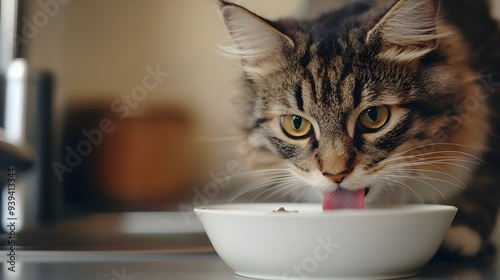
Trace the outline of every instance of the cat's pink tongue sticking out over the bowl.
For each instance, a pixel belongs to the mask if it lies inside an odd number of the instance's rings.
[[[365,208],[365,190],[350,191],[338,188],[333,192],[323,193],[323,210],[363,209]]]

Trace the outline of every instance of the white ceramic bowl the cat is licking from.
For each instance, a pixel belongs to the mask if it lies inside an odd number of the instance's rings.
[[[273,212],[280,207],[298,212]],[[384,206],[323,212],[320,204],[195,208],[219,256],[258,279],[388,279],[418,274],[457,209]]]

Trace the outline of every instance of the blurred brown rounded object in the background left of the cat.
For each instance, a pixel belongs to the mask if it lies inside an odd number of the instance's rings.
[[[172,200],[193,182],[192,123],[181,111],[112,119],[104,137],[97,174],[103,194],[118,202]]]

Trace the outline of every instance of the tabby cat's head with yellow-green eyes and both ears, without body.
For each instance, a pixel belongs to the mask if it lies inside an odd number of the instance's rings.
[[[222,4],[245,70],[249,141],[286,160],[307,185],[402,182],[424,160],[434,160],[428,170],[448,169],[435,159],[474,144],[457,139],[464,132],[453,108],[468,69],[443,50],[452,35],[437,26],[436,1],[277,22]]]

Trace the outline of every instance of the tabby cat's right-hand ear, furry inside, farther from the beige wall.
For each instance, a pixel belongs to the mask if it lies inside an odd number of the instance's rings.
[[[401,62],[418,60],[434,50],[443,36],[437,30],[439,0],[399,0],[366,36],[381,43],[379,58]]]

